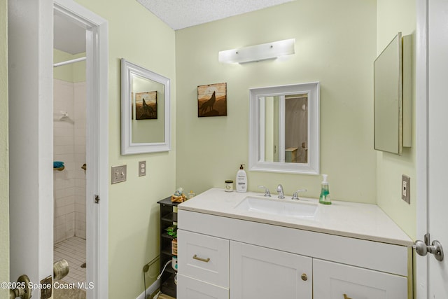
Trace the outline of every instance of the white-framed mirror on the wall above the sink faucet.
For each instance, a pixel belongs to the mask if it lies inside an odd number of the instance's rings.
[[[249,170],[319,174],[319,83],[249,90]]]

